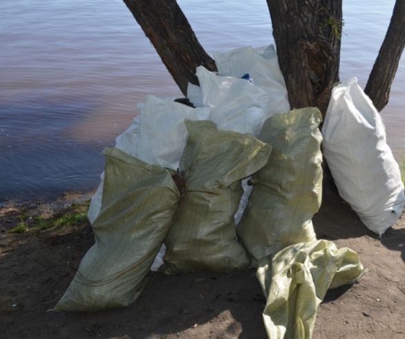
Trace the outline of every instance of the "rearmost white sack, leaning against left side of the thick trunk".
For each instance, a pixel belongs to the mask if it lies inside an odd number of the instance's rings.
[[[285,87],[274,46],[236,48],[227,53],[214,53],[218,74],[242,77],[246,73],[254,86],[267,94],[265,121],[274,113],[290,111],[288,93]]]

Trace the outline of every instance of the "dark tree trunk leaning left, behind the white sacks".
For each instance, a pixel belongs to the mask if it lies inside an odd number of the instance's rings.
[[[216,71],[175,0],[123,0],[183,94],[187,82],[198,84],[196,67]]]

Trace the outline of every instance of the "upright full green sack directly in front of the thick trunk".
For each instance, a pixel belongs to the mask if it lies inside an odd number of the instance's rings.
[[[322,198],[322,154],[315,108],[275,114],[260,140],[273,146],[268,163],[252,177],[253,191],[237,232],[253,266],[292,244],[316,239],[312,217]]]

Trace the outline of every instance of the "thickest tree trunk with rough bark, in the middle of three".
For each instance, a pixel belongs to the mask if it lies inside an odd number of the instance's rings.
[[[291,107],[326,113],[339,81],[341,0],[267,0]]]

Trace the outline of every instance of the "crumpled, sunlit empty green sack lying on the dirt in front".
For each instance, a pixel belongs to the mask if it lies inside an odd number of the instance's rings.
[[[295,244],[270,257],[256,273],[267,298],[263,321],[270,339],[311,339],[326,291],[364,274],[359,255],[332,241]]]

